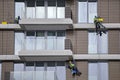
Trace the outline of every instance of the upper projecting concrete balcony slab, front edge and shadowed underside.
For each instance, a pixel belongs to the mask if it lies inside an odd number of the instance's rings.
[[[26,30],[66,30],[72,29],[72,20],[67,19],[22,19],[21,28]]]

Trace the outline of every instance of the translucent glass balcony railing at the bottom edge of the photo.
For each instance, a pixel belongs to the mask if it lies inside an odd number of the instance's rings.
[[[15,71],[10,80],[57,80],[57,76],[54,71]]]

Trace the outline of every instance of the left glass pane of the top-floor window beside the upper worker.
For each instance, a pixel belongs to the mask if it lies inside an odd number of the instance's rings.
[[[78,2],[78,22],[87,23],[87,2]]]

